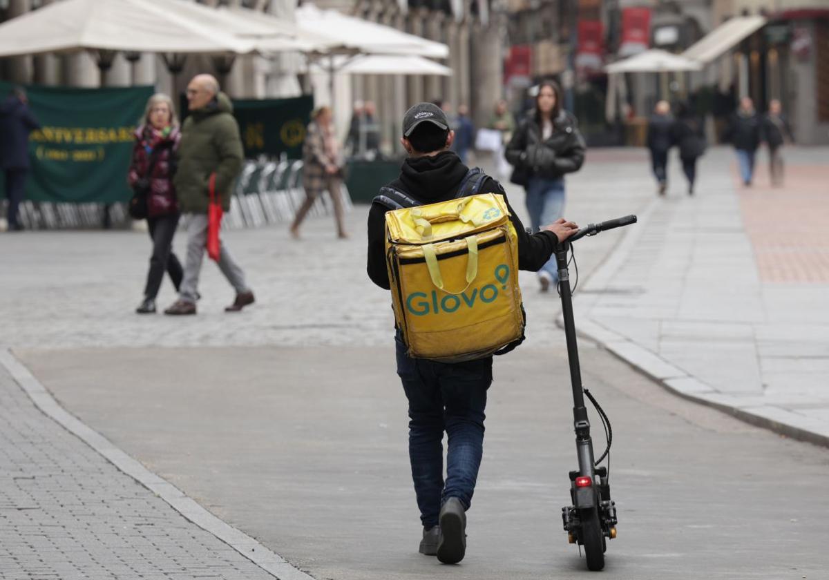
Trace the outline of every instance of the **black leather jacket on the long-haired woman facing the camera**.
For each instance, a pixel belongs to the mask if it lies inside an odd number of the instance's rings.
[[[528,176],[555,178],[581,169],[584,138],[573,115],[562,110],[553,121],[550,138],[541,138],[541,126],[531,112],[507,145],[507,161]]]

